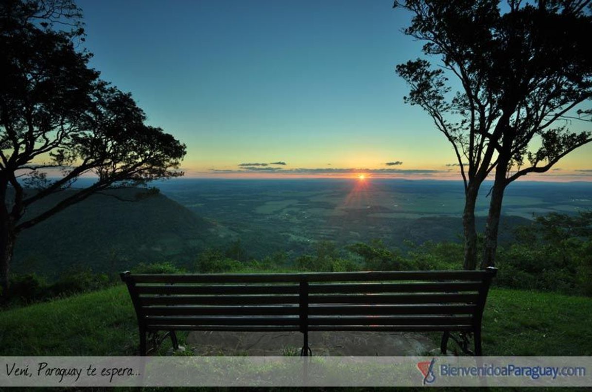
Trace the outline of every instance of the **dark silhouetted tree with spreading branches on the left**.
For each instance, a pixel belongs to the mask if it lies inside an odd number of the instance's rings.
[[[185,145],[146,115],[130,93],[88,67],[81,11],[72,0],[0,3],[0,277],[2,295],[17,235],[113,187],[181,176]],[[54,29],[54,25],[59,28]],[[37,216],[27,208],[94,174],[96,181]]]

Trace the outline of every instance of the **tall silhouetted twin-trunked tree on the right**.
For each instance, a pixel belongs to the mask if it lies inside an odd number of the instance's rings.
[[[420,105],[455,151],[465,187],[467,269],[477,266],[475,202],[494,174],[481,261],[493,265],[507,185],[548,171],[592,141],[590,132],[561,122],[592,97],[590,1],[409,0],[394,7],[413,15],[404,33],[439,57],[438,69],[417,59],[399,64],[397,73],[411,88],[404,100]]]

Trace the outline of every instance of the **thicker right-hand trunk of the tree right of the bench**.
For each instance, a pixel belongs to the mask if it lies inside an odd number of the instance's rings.
[[[506,171],[508,163],[499,162],[496,170],[496,180],[491,189],[491,202],[487,225],[485,226],[485,242],[481,268],[493,267],[496,263],[497,234],[500,226],[501,203],[506,190]]]

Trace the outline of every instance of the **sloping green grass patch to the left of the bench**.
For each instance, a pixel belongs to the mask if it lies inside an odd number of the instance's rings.
[[[138,342],[122,285],[0,313],[2,355],[134,355]]]

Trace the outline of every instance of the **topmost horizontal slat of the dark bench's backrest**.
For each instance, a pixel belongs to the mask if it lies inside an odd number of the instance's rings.
[[[287,274],[132,274],[134,283],[271,283],[322,281],[388,280],[474,280],[481,281],[482,270],[458,271],[368,271]]]

